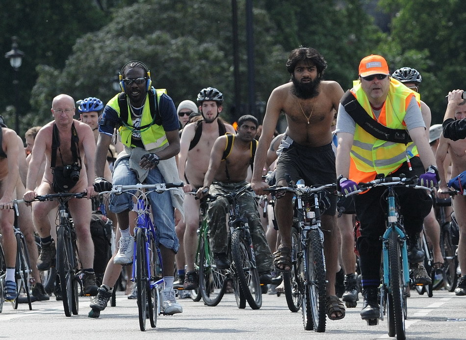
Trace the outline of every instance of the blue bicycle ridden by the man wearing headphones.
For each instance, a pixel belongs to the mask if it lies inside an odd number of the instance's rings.
[[[156,183],[134,185],[113,185],[112,190],[103,193],[128,193],[137,200],[137,222],[134,228],[134,257],[131,281],[136,283],[139,329],[146,330],[146,318],[151,327],[156,327],[160,311],[160,290],[163,288],[162,257],[158,248],[158,235],[151,218],[148,194],[176,190],[183,183]],[[99,317],[100,311],[91,309],[89,317]]]

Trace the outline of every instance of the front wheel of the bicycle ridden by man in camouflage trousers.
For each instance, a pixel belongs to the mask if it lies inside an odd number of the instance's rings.
[[[246,239],[245,231],[237,228],[232,235],[233,266],[238,277],[239,286],[252,309],[262,306],[262,290],[260,288],[259,273],[253,262],[254,248],[250,240]]]

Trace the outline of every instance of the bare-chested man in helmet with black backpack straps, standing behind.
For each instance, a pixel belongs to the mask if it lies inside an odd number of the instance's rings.
[[[223,109],[223,94],[219,90],[213,87],[202,89],[197,95],[197,103],[204,119],[187,124],[181,134],[178,168],[180,178],[186,183],[183,187],[184,192],[191,192],[203,186],[213,142],[225,132],[234,133],[233,127],[218,117]],[[183,287],[195,289],[198,282],[194,258],[198,243],[199,200],[195,200],[193,195],[184,197],[184,220],[186,229],[183,240],[187,272]],[[218,256],[219,261],[227,261],[226,254]]]

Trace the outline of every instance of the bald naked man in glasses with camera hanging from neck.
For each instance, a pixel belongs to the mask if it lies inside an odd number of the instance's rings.
[[[88,199],[79,201],[78,199],[71,199],[68,202],[68,208],[73,216],[73,223],[78,236],[78,252],[84,273],[84,294],[96,295],[96,276],[93,269],[94,244],[89,230],[89,221],[91,220],[91,201],[89,198],[95,195],[92,184],[95,178],[94,154],[96,144],[89,126],[73,119],[75,114],[75,101],[72,97],[65,94],[56,96],[53,98],[51,111],[54,120],[40,129],[34,140],[32,157],[27,171],[24,199],[25,201],[32,201],[35,196],[55,193],[56,191],[53,188],[54,177],[57,178],[58,172],[63,173],[62,167],[65,165],[80,167],[78,181],[70,181],[67,183],[71,187],[68,191],[87,191]],[[76,132],[78,135],[78,142],[76,142],[76,139],[73,140],[73,142],[77,144],[78,161],[72,156],[72,131],[73,134]],[[49,164],[51,164],[52,160],[52,135],[54,133],[60,141],[60,146],[56,151],[57,157],[55,165],[57,167],[52,170]],[[36,188],[38,173],[44,155],[46,157],[47,166],[42,183]],[[68,178],[68,180],[71,180],[71,178]],[[57,187],[55,187],[55,189],[57,189]],[[52,261],[55,259],[55,242],[50,234],[51,224],[47,214],[57,205],[58,203],[55,201],[35,202],[32,205],[34,226],[41,238],[42,246],[39,260],[37,261],[37,268],[39,270],[49,269]]]

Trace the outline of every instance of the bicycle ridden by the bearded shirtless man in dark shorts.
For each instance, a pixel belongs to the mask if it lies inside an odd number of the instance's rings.
[[[299,180],[297,185],[273,186],[266,190],[296,195],[294,217],[298,219],[298,228],[292,228],[291,232],[292,273],[287,280],[288,274],[284,275],[285,285],[289,283],[288,307],[291,305],[295,310],[301,307],[305,330],[325,332],[326,267],[320,218],[321,209],[325,208],[325,194],[336,193],[337,184],[305,186],[304,181]]]

